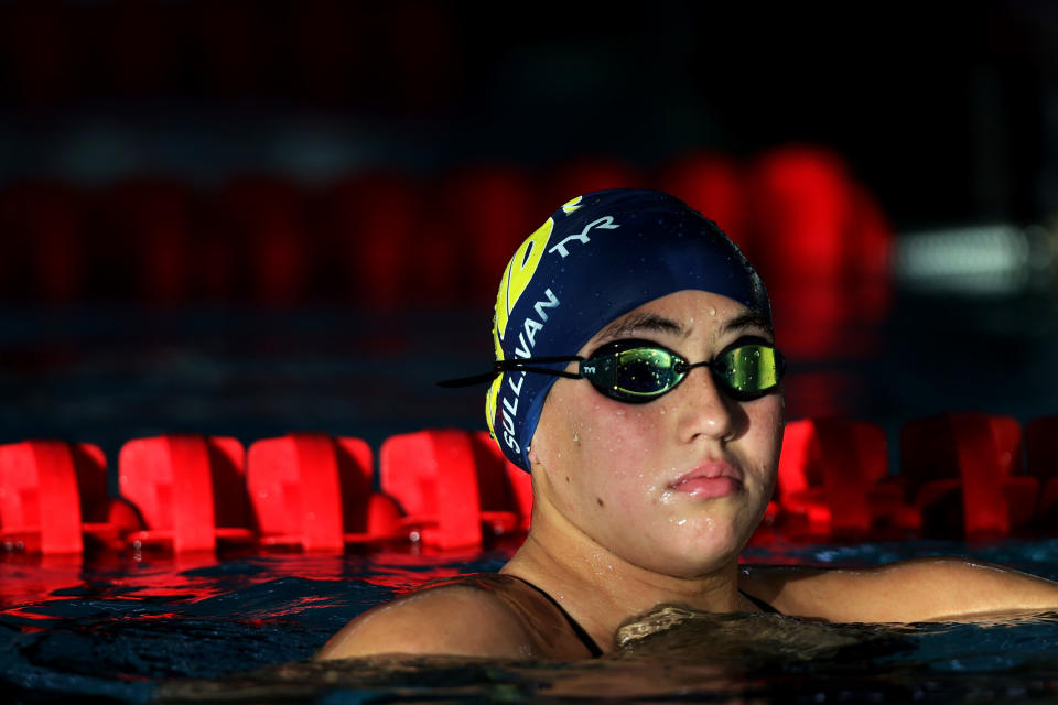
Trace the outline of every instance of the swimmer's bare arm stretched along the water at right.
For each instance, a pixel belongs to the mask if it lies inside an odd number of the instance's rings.
[[[784,614],[833,622],[972,621],[1058,609],[1058,584],[959,557],[864,568],[747,567],[739,585]]]

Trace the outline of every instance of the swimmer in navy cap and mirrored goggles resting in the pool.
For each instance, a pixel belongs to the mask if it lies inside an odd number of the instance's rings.
[[[1058,608],[1058,584],[960,558],[856,570],[739,566],[776,481],[782,355],[760,278],[660,192],[574,198],[515,253],[493,330],[489,429],[532,478],[498,574],[360,615],[317,658],[581,659],[662,604],[825,622]]]

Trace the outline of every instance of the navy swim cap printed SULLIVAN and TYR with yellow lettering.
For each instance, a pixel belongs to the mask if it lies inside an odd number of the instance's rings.
[[[659,191],[577,196],[515,252],[499,284],[496,359],[576,355],[603,326],[660,296],[721,294],[771,321],[764,282],[715,223]],[[565,364],[550,365],[564,369]],[[488,429],[504,455],[529,470],[529,442],[555,377],[497,376]]]

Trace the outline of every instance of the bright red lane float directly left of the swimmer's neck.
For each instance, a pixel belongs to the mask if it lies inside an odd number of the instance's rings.
[[[488,445],[487,434],[432,430],[390,436],[379,451],[382,491],[418,525],[424,545],[481,545],[493,534],[528,527],[529,477]]]

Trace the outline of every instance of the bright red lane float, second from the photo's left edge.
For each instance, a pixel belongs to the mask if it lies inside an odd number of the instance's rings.
[[[128,536],[174,553],[249,544],[245,453],[237,438],[170,434],[121,446],[118,486],[143,519]]]

